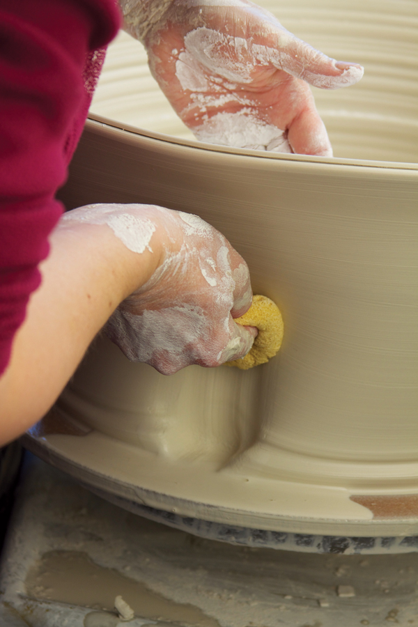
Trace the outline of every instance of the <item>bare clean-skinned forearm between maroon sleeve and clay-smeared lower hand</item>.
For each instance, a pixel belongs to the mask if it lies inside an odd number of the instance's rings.
[[[159,262],[158,246],[138,255],[104,225],[61,225],[51,245],[0,378],[0,445],[47,412],[114,309]]]

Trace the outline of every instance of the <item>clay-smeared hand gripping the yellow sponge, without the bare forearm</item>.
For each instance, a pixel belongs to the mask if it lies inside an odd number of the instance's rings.
[[[64,219],[107,224],[125,247],[157,256],[156,268],[109,319],[105,332],[128,359],[173,374],[190,364],[243,357],[256,329],[233,318],[251,305],[247,264],[196,215],[150,205],[92,205]]]

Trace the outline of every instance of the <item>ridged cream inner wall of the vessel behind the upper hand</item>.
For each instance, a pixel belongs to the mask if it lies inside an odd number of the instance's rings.
[[[417,162],[416,4],[408,0],[262,0],[322,52],[364,65],[359,84],[314,91],[336,157]],[[144,47],[121,32],[109,46],[91,111],[145,130],[194,139],[150,75]]]

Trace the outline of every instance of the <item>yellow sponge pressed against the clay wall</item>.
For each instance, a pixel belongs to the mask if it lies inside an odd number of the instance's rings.
[[[257,327],[258,335],[254,344],[245,357],[226,362],[226,366],[237,366],[241,370],[248,370],[253,366],[265,364],[276,355],[283,339],[283,318],[279,307],[266,296],[253,296],[253,302],[247,314],[235,318],[239,325]]]

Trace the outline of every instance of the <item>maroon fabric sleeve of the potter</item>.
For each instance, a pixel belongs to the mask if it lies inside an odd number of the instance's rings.
[[[0,373],[63,210],[86,67],[118,24],[114,0],[0,0]]]

